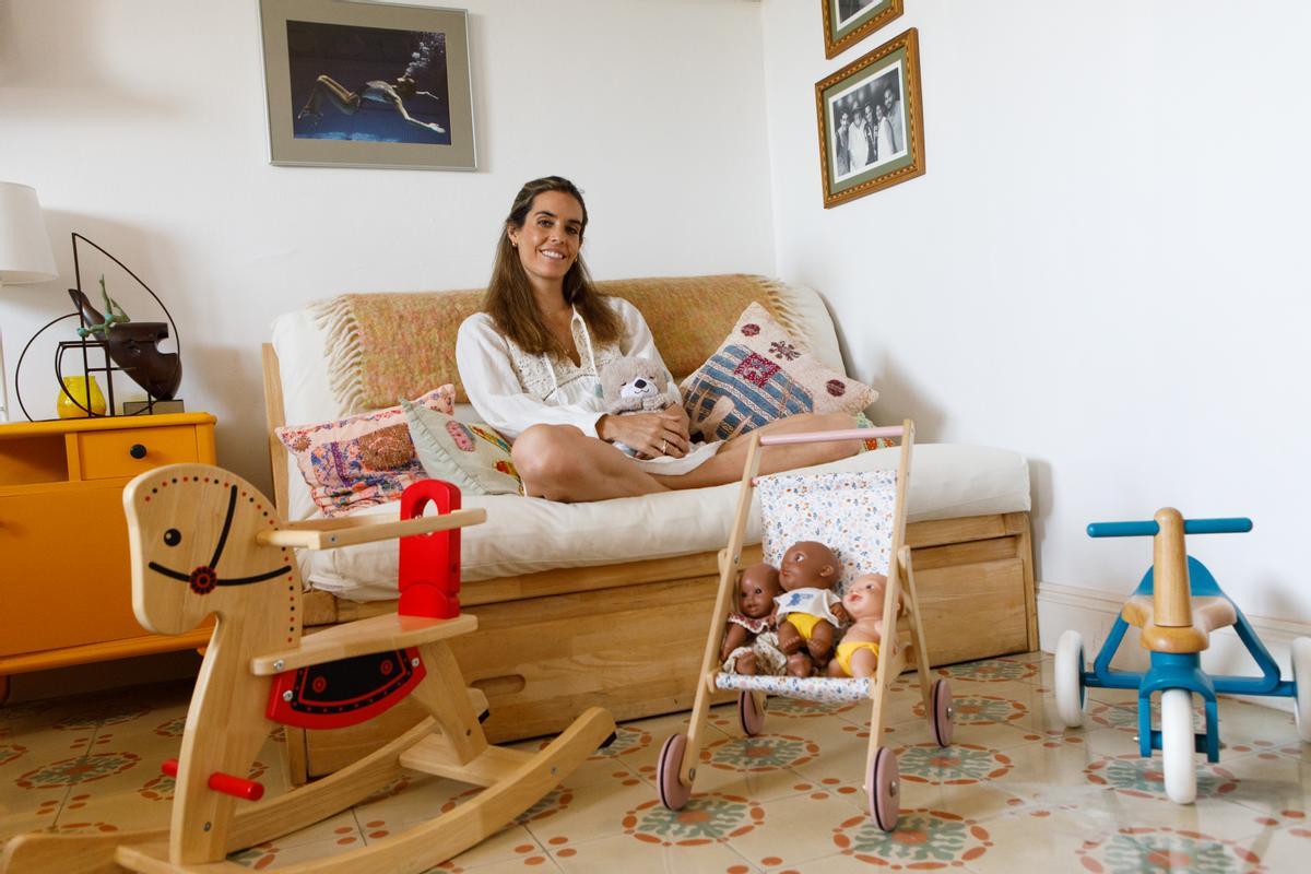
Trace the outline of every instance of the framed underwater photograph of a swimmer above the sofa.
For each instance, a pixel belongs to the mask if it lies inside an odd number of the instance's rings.
[[[477,169],[468,13],[260,0],[270,162]]]

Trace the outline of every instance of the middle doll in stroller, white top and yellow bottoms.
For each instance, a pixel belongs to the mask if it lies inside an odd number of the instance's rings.
[[[810,676],[817,666],[827,664],[838,626],[847,621],[842,600],[832,594],[838,570],[838,557],[814,540],[794,542],[783,553],[779,583],[784,594],[773,603],[779,649],[788,656],[792,676]]]

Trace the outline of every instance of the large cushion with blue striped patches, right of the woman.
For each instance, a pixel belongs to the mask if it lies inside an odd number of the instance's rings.
[[[679,387],[694,436],[726,440],[797,413],[855,415],[878,392],[823,364],[760,304]]]

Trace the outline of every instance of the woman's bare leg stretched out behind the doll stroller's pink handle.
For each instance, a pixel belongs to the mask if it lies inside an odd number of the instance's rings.
[[[797,431],[834,431],[856,427],[856,419],[846,413],[802,413],[789,415],[777,422],[758,428],[760,434],[796,434]],[[746,451],[750,435],[735,436],[695,470],[676,477],[654,477],[670,489],[700,489],[718,486],[742,478],[742,465],[746,464]],[[860,451],[855,440],[842,443],[794,443],[791,446],[767,446],[760,451],[760,476],[809,468],[846,459]]]

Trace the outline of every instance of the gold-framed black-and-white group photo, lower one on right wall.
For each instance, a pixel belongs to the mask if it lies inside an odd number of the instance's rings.
[[[825,208],[924,173],[919,33],[911,28],[815,83]]]

